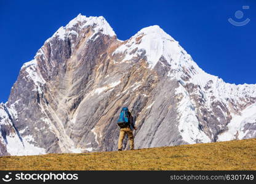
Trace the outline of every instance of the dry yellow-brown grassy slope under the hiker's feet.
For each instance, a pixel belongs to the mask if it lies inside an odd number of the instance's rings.
[[[0,157],[0,170],[256,170],[256,139],[131,151]]]

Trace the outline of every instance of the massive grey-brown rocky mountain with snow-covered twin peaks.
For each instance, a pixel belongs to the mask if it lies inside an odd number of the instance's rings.
[[[256,137],[256,85],[206,74],[159,26],[121,41],[103,17],[78,15],[0,105],[0,155],[116,150],[123,106],[135,148]]]

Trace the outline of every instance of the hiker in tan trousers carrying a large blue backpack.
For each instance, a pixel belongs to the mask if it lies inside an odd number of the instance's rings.
[[[127,107],[123,107],[118,119],[118,126],[120,127],[119,139],[118,139],[118,151],[122,151],[122,140],[127,134],[130,142],[130,150],[134,150],[134,135],[132,129],[137,129],[134,126],[134,117],[129,112]]]

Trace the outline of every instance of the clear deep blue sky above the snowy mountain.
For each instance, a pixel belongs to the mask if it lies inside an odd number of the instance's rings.
[[[236,18],[237,10],[244,17]],[[204,71],[229,83],[256,83],[255,0],[0,0],[0,102],[7,101],[22,64],[33,59],[44,41],[79,13],[102,15],[121,40],[146,26],[159,25]],[[250,18],[250,22],[238,27],[228,18]]]

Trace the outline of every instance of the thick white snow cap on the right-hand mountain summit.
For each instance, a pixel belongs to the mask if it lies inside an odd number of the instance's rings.
[[[137,53],[132,52],[135,48],[137,48]],[[149,67],[153,68],[162,56],[169,64],[174,59],[178,60],[183,48],[158,25],[154,25],[138,31],[138,33],[132,36],[125,45],[119,47],[115,53],[132,53],[124,58],[130,59],[137,55],[141,55],[143,51],[145,51],[145,56],[150,64]],[[185,51],[183,53],[185,53]]]

